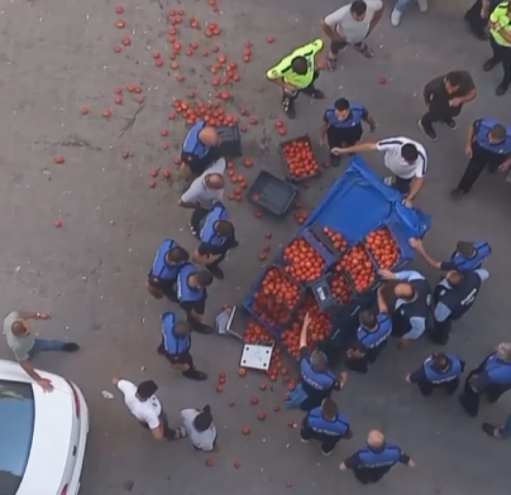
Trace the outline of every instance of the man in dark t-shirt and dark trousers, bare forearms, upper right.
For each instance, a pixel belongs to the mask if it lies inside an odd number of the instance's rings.
[[[454,117],[460,115],[463,103],[475,99],[477,89],[467,71],[451,71],[430,80],[424,87],[423,96],[428,111],[420,118],[419,127],[426,136],[436,141],[437,133],[433,124],[443,122],[453,131],[456,130],[458,127]]]

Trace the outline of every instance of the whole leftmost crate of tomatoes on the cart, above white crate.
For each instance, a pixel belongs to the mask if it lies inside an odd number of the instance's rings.
[[[245,308],[257,320],[279,336],[292,324],[305,297],[305,289],[279,266],[267,268]]]

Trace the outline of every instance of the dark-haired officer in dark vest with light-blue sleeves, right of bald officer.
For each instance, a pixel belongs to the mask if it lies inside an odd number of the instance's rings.
[[[472,308],[482,282],[489,276],[489,272],[483,268],[447,272],[433,290],[434,327],[428,333],[430,340],[441,345],[447,344],[452,322],[459,320]]]

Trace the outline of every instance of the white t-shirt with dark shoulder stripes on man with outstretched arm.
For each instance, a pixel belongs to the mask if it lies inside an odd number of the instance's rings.
[[[417,148],[419,157],[414,164],[410,165],[401,156],[401,148],[405,144],[412,144]],[[423,177],[428,170],[428,155],[423,145],[409,138],[387,138],[378,141],[377,150],[385,153],[384,164],[388,170],[402,179]]]

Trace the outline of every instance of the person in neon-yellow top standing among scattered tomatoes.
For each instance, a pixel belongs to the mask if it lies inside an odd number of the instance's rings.
[[[325,97],[314,85],[319,77],[317,64],[322,50],[323,40],[311,41],[286,55],[266,73],[269,82],[281,87],[282,107],[290,119],[296,116],[295,101],[300,93],[318,100]]]

